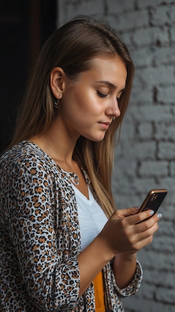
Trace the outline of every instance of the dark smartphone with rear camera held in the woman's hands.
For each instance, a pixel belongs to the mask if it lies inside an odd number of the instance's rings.
[[[158,211],[158,209],[159,209],[160,205],[162,204],[166,195],[167,195],[167,189],[166,188],[151,189],[149,191],[148,195],[145,197],[145,200],[141,204],[138,213],[145,211],[145,210],[148,210],[148,209],[152,209],[152,210],[154,210],[154,214],[155,214]],[[149,219],[151,217],[152,216],[148,217],[147,219]],[[145,219],[145,220],[147,220],[147,219]],[[145,220],[143,220],[143,221],[145,221]],[[141,222],[143,222],[143,221],[141,221]]]

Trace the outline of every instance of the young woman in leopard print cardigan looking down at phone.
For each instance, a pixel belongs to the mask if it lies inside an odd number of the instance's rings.
[[[121,312],[140,287],[136,254],[161,215],[116,210],[111,193],[133,74],[114,30],[87,17],[44,44],[0,158],[2,312]]]

